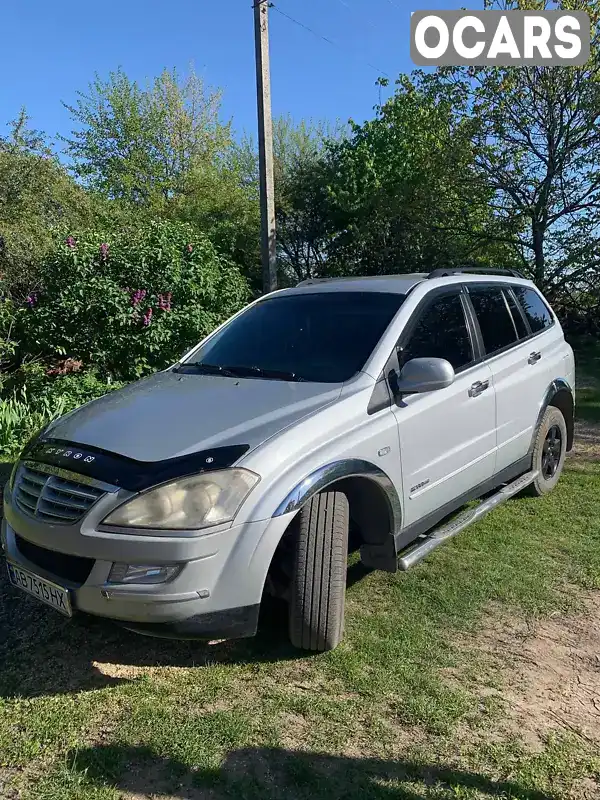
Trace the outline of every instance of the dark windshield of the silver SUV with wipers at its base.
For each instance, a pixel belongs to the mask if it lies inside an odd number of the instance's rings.
[[[342,383],[365,365],[404,295],[310,292],[248,308],[191,356],[186,369],[227,377]]]

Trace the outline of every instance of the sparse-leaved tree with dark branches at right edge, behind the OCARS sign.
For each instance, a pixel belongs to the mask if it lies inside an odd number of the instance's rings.
[[[469,121],[479,174],[507,241],[540,288],[558,295],[600,267],[600,9],[596,2],[488,0],[487,8],[588,11],[584,67],[438,69],[415,85]]]

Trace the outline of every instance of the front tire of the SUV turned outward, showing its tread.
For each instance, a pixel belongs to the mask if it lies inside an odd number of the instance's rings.
[[[341,492],[321,492],[299,513],[289,603],[294,647],[322,653],[342,639],[348,528],[348,500]]]

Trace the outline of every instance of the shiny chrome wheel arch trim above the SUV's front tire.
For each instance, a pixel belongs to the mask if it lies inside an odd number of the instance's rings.
[[[273,516],[281,517],[284,514],[298,511],[313,495],[318,494],[327,486],[331,486],[343,478],[367,478],[376,483],[383,490],[388,501],[391,534],[394,535],[400,530],[402,525],[402,506],[396,487],[391,479],[375,464],[354,458],[333,461],[331,464],[326,464],[312,472],[292,489]]]

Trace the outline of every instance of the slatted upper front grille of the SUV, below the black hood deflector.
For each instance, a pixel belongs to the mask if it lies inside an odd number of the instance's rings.
[[[17,473],[14,498],[25,514],[51,522],[72,525],[96,503],[103,489],[61,478],[32,466],[21,465]]]

